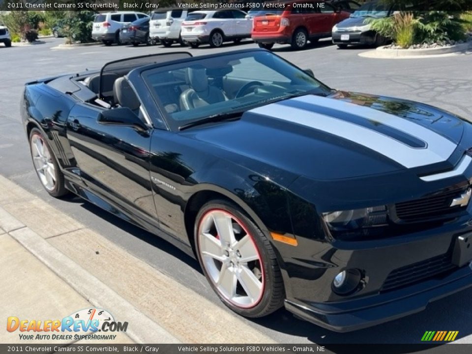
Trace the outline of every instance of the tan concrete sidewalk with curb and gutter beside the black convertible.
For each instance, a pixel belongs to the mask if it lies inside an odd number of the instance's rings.
[[[0,287],[14,289],[0,315],[62,319],[97,307],[129,323],[115,343],[273,343],[246,320],[2,176],[0,228]],[[4,330],[5,320],[0,318],[0,343],[19,341],[18,331]]]

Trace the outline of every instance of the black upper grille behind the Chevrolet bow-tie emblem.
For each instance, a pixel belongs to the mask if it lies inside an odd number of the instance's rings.
[[[452,200],[467,191],[469,185],[450,188],[429,197],[395,204],[397,218],[403,222],[417,222],[452,216],[466,207],[450,207]]]

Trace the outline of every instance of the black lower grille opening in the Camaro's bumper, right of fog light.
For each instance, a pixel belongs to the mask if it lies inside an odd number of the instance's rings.
[[[382,291],[394,290],[415,282],[424,281],[455,267],[451,263],[450,253],[446,253],[409,266],[397,268],[388,275],[383,283]]]

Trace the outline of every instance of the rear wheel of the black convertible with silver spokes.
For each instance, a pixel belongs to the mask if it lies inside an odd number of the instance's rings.
[[[47,140],[38,128],[29,134],[29,150],[31,158],[44,189],[53,197],[61,197],[68,193],[64,187],[64,175],[60,172],[58,162]]]

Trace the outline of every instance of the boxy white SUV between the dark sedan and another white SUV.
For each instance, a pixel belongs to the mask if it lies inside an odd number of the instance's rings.
[[[180,26],[192,11],[195,10],[153,11],[149,21],[149,37],[159,40],[164,47],[170,47],[174,42],[183,45]]]

